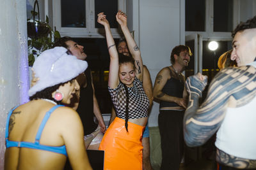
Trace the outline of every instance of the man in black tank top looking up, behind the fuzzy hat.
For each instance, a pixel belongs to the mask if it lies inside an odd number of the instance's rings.
[[[83,46],[78,45],[76,42],[72,40],[70,37],[63,37],[58,39],[54,46],[63,46],[68,49],[70,54],[77,57],[77,59],[85,60],[87,55],[84,53]],[[79,104],[77,107],[77,113],[79,114],[83,127],[84,127],[84,135],[92,134],[95,136],[95,130],[97,129],[98,125],[95,124],[93,121],[93,114],[97,118],[99,122],[99,127],[102,132],[106,131],[106,125],[104,124],[104,120],[100,113],[99,104],[95,97],[93,81],[92,81],[92,73],[90,67],[84,71],[83,74],[79,75],[81,82],[80,85],[80,97],[79,97]],[[96,137],[97,138],[97,137]],[[87,140],[88,141],[88,140]],[[91,140],[90,140],[91,142]],[[86,147],[90,144],[86,142]],[[97,145],[99,148],[100,141],[97,139],[97,143],[93,143],[93,145]],[[92,148],[93,147],[93,148]],[[97,149],[97,147],[92,146],[90,149]]]

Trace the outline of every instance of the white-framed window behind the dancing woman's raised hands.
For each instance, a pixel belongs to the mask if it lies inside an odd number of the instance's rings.
[[[77,38],[104,38],[104,29],[97,23],[97,14],[103,11],[108,18],[111,32],[120,38],[115,14],[125,11],[125,0],[54,0],[53,25],[61,36]]]

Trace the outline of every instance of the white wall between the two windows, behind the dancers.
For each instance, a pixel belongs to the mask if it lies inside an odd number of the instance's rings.
[[[180,0],[140,0],[139,6],[141,56],[154,85],[160,69],[170,66],[172,48],[180,45],[182,39]],[[154,102],[148,120],[150,127],[158,126],[158,114],[159,104]]]

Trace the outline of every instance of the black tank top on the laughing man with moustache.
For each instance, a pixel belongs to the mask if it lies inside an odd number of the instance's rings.
[[[168,67],[170,69],[170,67]],[[174,78],[175,76],[173,75],[172,70],[170,69],[170,75],[171,78],[166,81],[166,84],[164,85],[162,92],[164,94],[167,94],[169,96],[174,96],[174,97],[183,97],[183,90],[184,90],[184,80],[177,80]],[[159,108],[163,107],[177,107],[179,104],[175,102],[166,102],[166,101],[160,101],[160,106]]]

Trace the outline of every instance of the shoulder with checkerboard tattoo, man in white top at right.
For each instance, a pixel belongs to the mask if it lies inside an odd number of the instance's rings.
[[[243,106],[256,95],[256,69],[253,66],[228,67],[216,74],[209,93],[232,99],[232,107]]]

